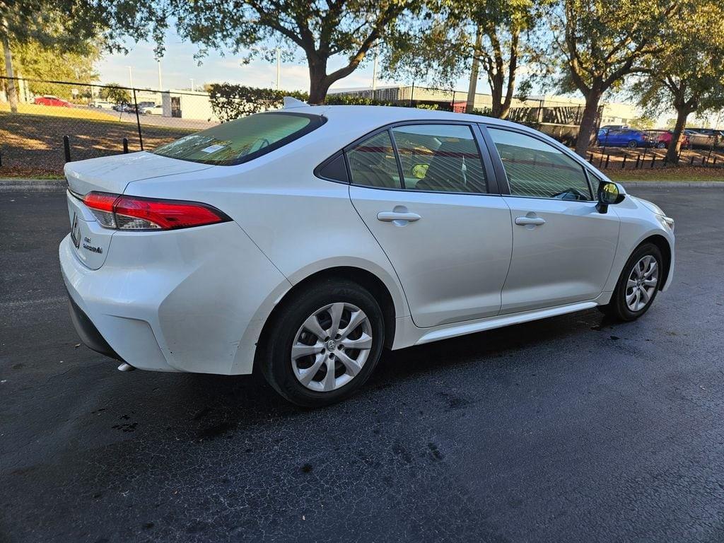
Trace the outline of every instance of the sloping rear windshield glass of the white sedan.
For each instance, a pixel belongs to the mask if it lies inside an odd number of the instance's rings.
[[[302,113],[260,113],[185,136],[153,153],[172,159],[232,166],[285,146],[324,125],[325,120],[320,115]]]

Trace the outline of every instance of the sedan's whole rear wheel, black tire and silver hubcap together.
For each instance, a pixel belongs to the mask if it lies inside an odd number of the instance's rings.
[[[266,334],[261,370],[290,402],[320,407],[356,392],[383,344],[374,297],[354,282],[328,279],[285,301]]]

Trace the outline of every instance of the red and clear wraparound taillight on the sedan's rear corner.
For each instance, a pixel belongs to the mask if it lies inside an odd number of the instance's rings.
[[[83,203],[98,224],[115,230],[175,230],[231,220],[222,211],[198,202],[93,192],[85,195]]]

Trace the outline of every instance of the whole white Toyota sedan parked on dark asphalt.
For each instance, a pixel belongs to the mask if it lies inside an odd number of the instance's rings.
[[[298,405],[358,390],[383,348],[636,319],[673,275],[673,219],[487,117],[287,99],[65,174],[86,345],[119,369],[258,370]]]

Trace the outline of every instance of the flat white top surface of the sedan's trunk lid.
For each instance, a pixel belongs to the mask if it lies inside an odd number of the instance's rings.
[[[122,194],[132,181],[198,172],[212,167],[210,164],[169,159],[141,151],[69,162],[64,171],[70,190],[86,195],[93,190]]]

